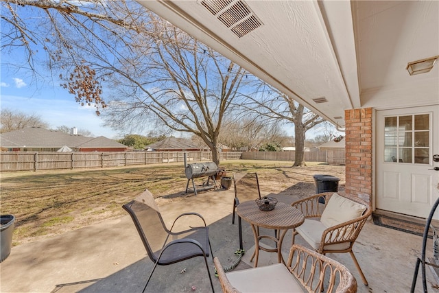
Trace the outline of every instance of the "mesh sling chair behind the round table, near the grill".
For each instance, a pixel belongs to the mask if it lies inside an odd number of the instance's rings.
[[[248,200],[255,200],[257,197],[261,198],[261,191],[259,189],[259,179],[257,173],[247,173],[241,178],[237,178],[233,174],[233,186],[235,187],[235,199],[233,200],[233,215],[232,224],[235,224],[236,207],[239,204],[239,196],[247,198]],[[243,250],[242,244],[242,222],[238,215],[238,230],[239,230],[239,248]]]

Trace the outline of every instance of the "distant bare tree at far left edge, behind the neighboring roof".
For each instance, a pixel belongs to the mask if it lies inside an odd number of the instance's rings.
[[[26,114],[18,110],[1,109],[0,133],[19,130],[27,127],[49,128],[49,124],[40,116]]]

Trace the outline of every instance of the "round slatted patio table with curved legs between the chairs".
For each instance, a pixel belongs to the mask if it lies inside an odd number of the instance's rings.
[[[282,257],[283,237],[289,229],[296,228],[305,221],[303,214],[295,207],[283,202],[278,202],[272,211],[261,211],[254,200],[241,202],[236,211],[239,217],[252,226],[255,247],[250,261],[254,258],[254,267],[258,266],[259,250],[277,253],[278,262],[285,263]],[[259,227],[274,229],[276,236],[260,235]],[[260,246],[259,242],[264,238],[273,240],[276,243],[276,248]]]

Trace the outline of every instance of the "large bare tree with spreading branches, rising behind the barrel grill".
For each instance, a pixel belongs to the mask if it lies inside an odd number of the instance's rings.
[[[111,80],[115,94],[104,116],[107,124],[123,128],[158,122],[195,134],[219,164],[222,120],[232,102],[239,104],[249,74],[154,14],[144,32],[149,38],[137,41],[125,71],[118,72],[123,79]]]

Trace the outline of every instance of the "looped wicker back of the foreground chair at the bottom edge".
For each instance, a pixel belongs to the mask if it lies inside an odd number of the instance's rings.
[[[308,292],[357,292],[357,281],[345,266],[304,246],[292,246],[287,268]]]

